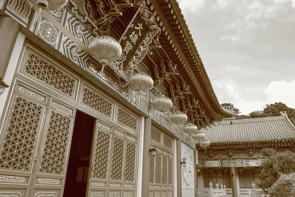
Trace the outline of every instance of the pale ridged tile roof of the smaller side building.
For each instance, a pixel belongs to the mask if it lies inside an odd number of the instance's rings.
[[[283,141],[295,139],[295,127],[288,116],[222,121],[202,129],[212,144]]]

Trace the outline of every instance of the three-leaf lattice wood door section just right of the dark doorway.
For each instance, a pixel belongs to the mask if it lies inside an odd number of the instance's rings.
[[[134,197],[137,137],[96,121],[88,197]]]

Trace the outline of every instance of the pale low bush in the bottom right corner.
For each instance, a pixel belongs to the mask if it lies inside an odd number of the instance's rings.
[[[279,193],[295,193],[295,172],[282,174],[268,191],[271,197],[281,197]]]

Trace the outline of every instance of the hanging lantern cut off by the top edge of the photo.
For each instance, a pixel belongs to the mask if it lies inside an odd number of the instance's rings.
[[[37,14],[37,18],[40,17],[42,10],[59,10],[63,8],[68,0],[29,0],[33,4],[35,4],[39,10]]]

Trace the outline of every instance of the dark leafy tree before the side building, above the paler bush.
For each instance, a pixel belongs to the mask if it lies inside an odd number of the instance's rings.
[[[268,192],[270,187],[279,179],[281,174],[295,172],[295,154],[291,151],[273,152],[270,149],[262,151],[263,155],[270,155],[261,165],[258,176],[259,187]]]

